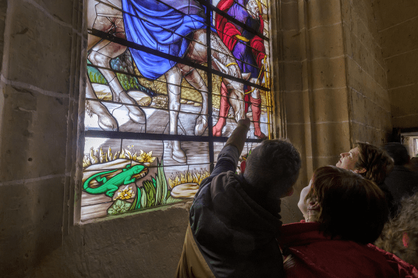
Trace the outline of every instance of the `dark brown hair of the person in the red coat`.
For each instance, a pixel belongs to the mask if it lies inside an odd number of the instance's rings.
[[[304,202],[316,203],[326,236],[373,243],[387,220],[385,194],[369,179],[335,166],[315,170]]]

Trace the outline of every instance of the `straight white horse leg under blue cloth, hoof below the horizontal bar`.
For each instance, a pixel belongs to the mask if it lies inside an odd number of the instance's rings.
[[[169,95],[169,116],[170,116],[170,134],[177,134],[178,112],[180,111],[180,92],[182,76],[177,66],[171,67],[165,73],[167,79],[167,93]],[[173,159],[180,163],[186,163],[186,153],[181,149],[180,141],[173,141]]]

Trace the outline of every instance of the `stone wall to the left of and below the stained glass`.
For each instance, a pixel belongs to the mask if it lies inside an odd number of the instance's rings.
[[[83,13],[82,0],[0,1],[1,277],[171,277],[187,228],[184,203],[74,221]]]

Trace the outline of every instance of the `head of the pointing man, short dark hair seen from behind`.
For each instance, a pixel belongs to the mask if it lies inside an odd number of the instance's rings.
[[[293,192],[300,154],[288,140],[264,140],[247,158],[244,177],[253,190],[278,199]]]

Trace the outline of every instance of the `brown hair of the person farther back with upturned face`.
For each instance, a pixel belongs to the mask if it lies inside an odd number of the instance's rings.
[[[380,147],[367,142],[357,142],[357,145],[359,159],[355,163],[355,169],[364,168],[366,172],[361,173],[363,177],[374,181],[376,184],[383,183],[394,168],[394,160]]]

